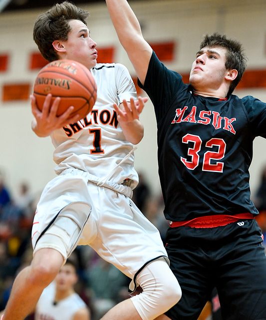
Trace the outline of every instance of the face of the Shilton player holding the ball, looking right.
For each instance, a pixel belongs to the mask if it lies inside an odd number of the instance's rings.
[[[90,31],[80,20],[70,20],[71,30],[68,39],[62,41],[64,58],[78,61],[89,69],[95,66],[97,59],[96,42],[90,37]]]

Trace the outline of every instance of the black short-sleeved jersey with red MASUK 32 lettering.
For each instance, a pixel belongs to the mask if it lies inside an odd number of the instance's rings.
[[[153,52],[144,86],[157,120],[165,216],[183,221],[212,214],[258,214],[250,198],[253,140],[266,137],[266,103],[193,93]]]

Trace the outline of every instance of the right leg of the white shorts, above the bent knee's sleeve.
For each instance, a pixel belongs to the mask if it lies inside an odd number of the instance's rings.
[[[98,233],[88,244],[102,258],[132,279],[149,261],[160,256],[168,260],[158,229],[130,198],[104,188],[99,190],[98,201],[100,209],[92,209]]]

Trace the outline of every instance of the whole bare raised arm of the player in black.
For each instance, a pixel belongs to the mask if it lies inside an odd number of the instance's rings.
[[[143,38],[139,21],[126,0],[106,0],[118,38],[144,83],[152,48]]]

